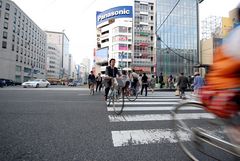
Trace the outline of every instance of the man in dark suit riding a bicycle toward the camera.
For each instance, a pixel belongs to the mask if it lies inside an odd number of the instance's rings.
[[[115,59],[110,59],[109,61],[109,66],[106,67],[106,71],[105,71],[105,79],[104,81],[105,82],[105,101],[107,100],[107,96],[108,96],[108,92],[110,90],[110,87],[112,85],[112,81],[111,81],[111,78],[116,78],[117,75],[118,77],[121,76],[121,74],[119,73],[118,69],[115,67],[115,62],[116,60]]]

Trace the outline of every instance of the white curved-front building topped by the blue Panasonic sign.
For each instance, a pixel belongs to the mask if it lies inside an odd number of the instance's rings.
[[[132,6],[118,6],[96,14],[97,48],[94,54],[96,73],[101,66],[116,59],[116,67],[128,70],[132,66]]]

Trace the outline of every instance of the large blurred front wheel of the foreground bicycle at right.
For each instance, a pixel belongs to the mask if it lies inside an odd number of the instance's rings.
[[[211,140],[208,140],[207,137],[201,139],[203,136],[200,136],[200,134],[207,134],[228,142],[228,137],[223,128],[224,124],[221,120],[206,112],[204,106],[197,102],[177,105],[172,112],[172,116],[177,141],[189,158],[192,160],[207,160],[219,157],[215,155],[221,153],[219,151],[222,150],[219,147],[212,146]],[[207,159],[203,159],[203,154]]]

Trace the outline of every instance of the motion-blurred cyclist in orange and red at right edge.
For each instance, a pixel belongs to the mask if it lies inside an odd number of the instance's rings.
[[[240,22],[240,4],[236,14]],[[229,136],[240,145],[240,25],[216,49],[206,82],[201,91],[203,104],[210,112],[227,119]]]

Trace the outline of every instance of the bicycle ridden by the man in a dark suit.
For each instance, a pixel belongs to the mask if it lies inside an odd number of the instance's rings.
[[[108,93],[108,106],[112,103],[114,112],[117,115],[120,115],[124,108],[124,90],[123,88],[118,86],[117,79],[111,78],[112,85],[110,87],[110,91]],[[119,102],[121,103],[119,104]],[[117,103],[118,102],[118,103]]]

